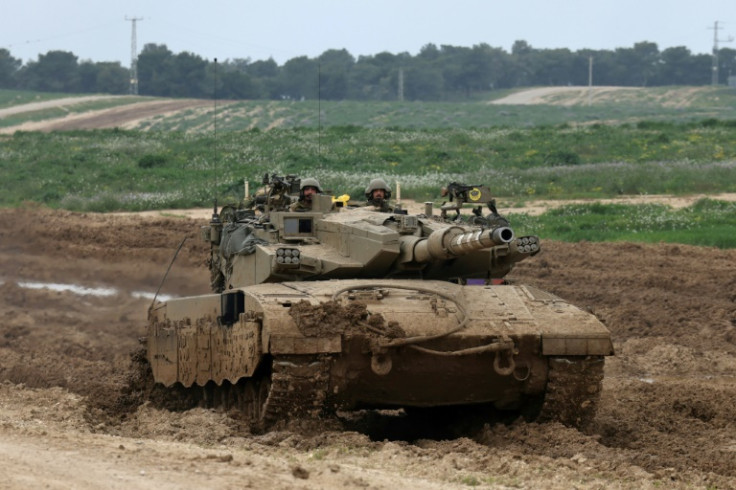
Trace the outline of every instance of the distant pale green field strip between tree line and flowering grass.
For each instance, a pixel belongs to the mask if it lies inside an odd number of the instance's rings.
[[[734,98],[732,96],[732,98]],[[508,127],[527,129],[570,125],[693,122],[736,118],[736,103],[703,105],[689,110],[630,102],[594,106],[504,106],[485,102],[356,102],[356,101],[243,101],[221,104],[217,126],[222,131],[272,127],[339,127],[405,129],[469,129]],[[212,109],[161,116],[140,126],[155,131],[206,132],[212,130]]]

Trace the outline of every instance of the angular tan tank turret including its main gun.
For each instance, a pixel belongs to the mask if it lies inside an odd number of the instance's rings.
[[[228,212],[222,224],[203,227],[212,244],[214,292],[349,277],[500,279],[540,251],[537,237],[516,238],[505,219],[468,223],[370,208],[340,211],[325,195],[306,212],[269,209],[260,216]]]

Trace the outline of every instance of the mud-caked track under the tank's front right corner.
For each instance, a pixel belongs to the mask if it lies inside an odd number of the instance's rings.
[[[602,356],[551,357],[547,390],[537,420],[587,428],[598,410],[604,359]]]

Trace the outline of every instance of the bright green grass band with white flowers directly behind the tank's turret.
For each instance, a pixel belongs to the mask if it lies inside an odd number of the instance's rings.
[[[333,193],[353,196],[382,176],[401,183],[402,197],[417,200],[439,199],[452,181],[487,184],[509,200],[736,192],[736,125],[655,128],[341,126],[217,138],[117,129],[16,132],[0,137],[0,206],[29,200],[79,211],[209,206],[214,196],[239,200],[243,180],[255,189],[266,172],[313,176]]]

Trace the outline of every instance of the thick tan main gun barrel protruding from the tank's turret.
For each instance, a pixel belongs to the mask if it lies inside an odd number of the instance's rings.
[[[413,242],[412,260],[430,262],[465,255],[476,250],[505,245],[514,239],[508,226],[466,232],[451,226],[432,232],[426,239]]]

